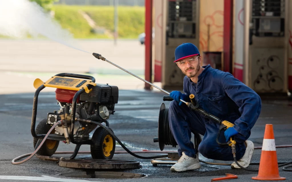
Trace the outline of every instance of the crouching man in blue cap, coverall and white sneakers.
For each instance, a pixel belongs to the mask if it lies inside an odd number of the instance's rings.
[[[222,120],[234,124],[219,137],[227,142],[231,136],[236,141],[236,159],[243,167],[251,162],[254,145],[247,140],[251,128],[256,123],[262,103],[260,96],[251,88],[234,78],[232,74],[213,69],[210,65],[200,66],[201,55],[192,43],[183,43],[175,49],[177,66],[186,75],[183,91],[172,91],[174,99],[169,106],[168,120],[171,132],[179,149],[180,159],[171,167],[173,172],[182,172],[201,167],[199,158],[191,142],[191,132],[204,135],[199,144],[199,153],[213,160],[231,161],[233,155],[230,146],[220,146],[216,142],[220,124],[183,104],[180,99],[190,102],[189,95],[194,94],[200,108]],[[231,168],[240,168],[232,163]]]

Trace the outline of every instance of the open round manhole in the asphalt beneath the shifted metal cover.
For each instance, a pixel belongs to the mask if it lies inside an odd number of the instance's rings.
[[[128,179],[128,178],[144,178],[145,174],[129,173],[129,172],[110,172],[110,171],[95,171],[95,172],[68,172],[59,174],[59,176],[71,178],[102,178],[102,179]]]

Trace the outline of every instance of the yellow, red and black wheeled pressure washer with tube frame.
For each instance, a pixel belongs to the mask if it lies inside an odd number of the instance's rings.
[[[90,138],[89,133],[96,128],[96,124],[88,123],[86,120],[105,123],[110,129],[109,115],[114,114],[114,106],[119,98],[117,86],[96,84],[95,78],[88,75],[60,73],[46,82],[36,79],[34,87],[36,92],[31,124],[34,147],[57,121],[64,121],[63,125],[58,125],[52,130],[37,154],[52,156],[59,142],[63,141],[67,144],[70,142],[77,144],[71,158],[77,155],[81,144],[89,144],[93,159],[112,159],[116,140],[102,127],[97,128]],[[35,129],[38,96],[45,87],[56,88],[56,100],[60,109],[49,112],[47,118],[41,120]]]

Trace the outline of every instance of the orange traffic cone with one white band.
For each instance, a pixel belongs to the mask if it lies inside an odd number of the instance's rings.
[[[257,180],[285,180],[279,176],[276,145],[272,124],[266,124],[263,140],[262,154],[260,156],[260,168],[258,176],[251,179]]]

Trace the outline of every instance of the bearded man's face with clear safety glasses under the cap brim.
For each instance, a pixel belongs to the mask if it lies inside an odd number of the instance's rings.
[[[187,77],[192,78],[197,75],[200,70],[201,55],[192,56],[182,59],[181,61],[176,62],[180,70],[187,75]]]

